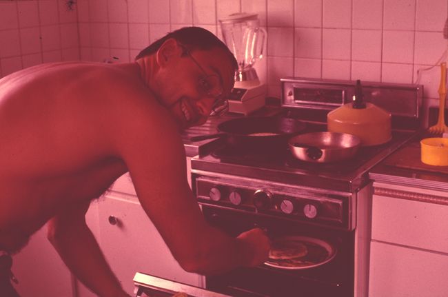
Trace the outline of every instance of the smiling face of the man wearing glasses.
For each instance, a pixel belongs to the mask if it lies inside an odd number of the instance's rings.
[[[224,50],[214,48],[188,54],[183,51],[171,62],[159,76],[159,96],[181,129],[202,125],[207,121],[218,93],[213,92],[215,90],[207,92],[204,84],[212,78],[212,81],[218,81],[221,96],[229,94],[234,85],[230,59]]]

